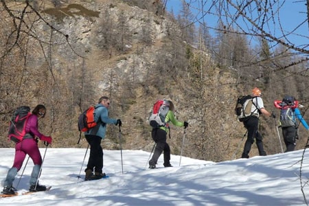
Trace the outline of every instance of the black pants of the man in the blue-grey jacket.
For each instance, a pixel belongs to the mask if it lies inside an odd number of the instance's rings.
[[[101,147],[102,138],[95,135],[85,135],[90,145],[90,155],[86,170],[94,169],[95,172],[102,173],[103,149]],[[85,171],[86,171],[85,170]]]

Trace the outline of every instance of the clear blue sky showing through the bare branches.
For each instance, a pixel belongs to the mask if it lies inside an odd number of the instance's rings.
[[[179,12],[179,9],[181,8],[181,0],[168,0],[167,8],[168,11],[173,10],[174,14],[176,15],[177,12]],[[196,1],[194,1],[196,2]],[[280,8],[279,13],[275,14],[275,24],[270,26],[270,30],[273,34],[275,34],[277,37],[282,37],[282,32],[279,30],[279,23],[278,19],[281,21],[281,26],[284,28],[284,32],[288,33],[295,29],[297,25],[299,25],[301,22],[306,21],[306,5],[305,1],[294,1],[294,0],[282,0],[279,1],[279,3],[284,3],[282,8]],[[198,4],[192,4],[196,8],[198,8]],[[278,4],[276,4],[278,5]],[[193,10],[194,14],[198,14],[197,10]],[[218,23],[218,19],[214,15],[207,14],[207,19],[205,20],[207,25],[210,27],[216,27]],[[211,32],[211,31],[210,31]],[[291,43],[294,43],[296,46],[300,45],[308,45],[309,43],[309,28],[308,28],[308,21],[303,23],[301,27],[297,28],[297,30],[294,31],[294,33],[297,33],[298,35],[290,35],[288,36],[288,41]],[[308,49],[308,48],[307,48]]]

